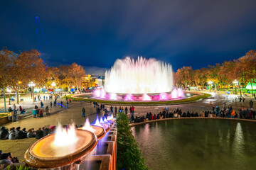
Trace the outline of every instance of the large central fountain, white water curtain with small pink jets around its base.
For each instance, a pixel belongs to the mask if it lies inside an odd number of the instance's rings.
[[[125,57],[105,72],[104,87],[94,97],[110,101],[168,101],[184,98],[173,86],[171,64],[156,59]]]

